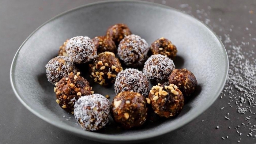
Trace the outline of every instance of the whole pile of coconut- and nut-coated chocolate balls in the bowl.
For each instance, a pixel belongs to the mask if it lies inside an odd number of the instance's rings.
[[[55,85],[57,104],[74,114],[84,130],[103,128],[110,115],[120,127],[129,129],[142,126],[150,110],[159,117],[174,117],[182,110],[184,98],[195,91],[193,73],[175,69],[176,54],[176,46],[168,39],[159,38],[149,46],[126,24],[118,23],[104,36],[67,39],[59,48],[59,56],[46,64],[46,76]],[[114,84],[112,103],[94,94],[89,82],[80,76],[83,71],[79,64],[89,65],[95,83],[105,87]],[[129,68],[123,70],[122,64]],[[136,69],[139,67],[143,71]]]

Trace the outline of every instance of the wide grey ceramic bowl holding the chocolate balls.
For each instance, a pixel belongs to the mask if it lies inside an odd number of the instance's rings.
[[[112,121],[99,132],[82,130],[74,116],[55,102],[53,85],[46,79],[45,65],[57,55],[59,46],[77,35],[105,35],[115,23],[126,23],[133,34],[151,44],[166,37],[178,49],[177,68],[192,71],[198,81],[195,96],[176,118],[159,123],[147,122],[140,129],[117,129]],[[212,105],[227,77],[228,58],[217,36],[192,16],[164,5],[141,1],[108,1],[84,5],[64,12],[35,30],[20,46],[11,65],[12,88],[32,113],[57,128],[87,139],[104,142],[142,141],[160,136],[188,124]],[[104,88],[88,78],[95,93],[115,96],[113,87]],[[66,116],[66,118],[63,117]],[[68,117],[73,119],[67,121]]]

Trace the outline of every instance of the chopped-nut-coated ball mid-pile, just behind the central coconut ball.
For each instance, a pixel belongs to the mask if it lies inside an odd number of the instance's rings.
[[[90,77],[94,79],[94,82],[107,86],[115,82],[117,74],[122,70],[121,63],[114,53],[103,52],[90,65]]]

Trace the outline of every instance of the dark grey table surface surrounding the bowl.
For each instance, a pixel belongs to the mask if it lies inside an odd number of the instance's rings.
[[[98,144],[66,133],[39,119],[16,98],[10,85],[10,66],[16,50],[38,26],[53,16],[93,0],[1,0],[0,1],[0,143],[86,143]],[[226,49],[243,45],[242,52],[256,45],[255,0],[151,0],[185,11],[206,23],[222,38]],[[249,42],[249,43],[248,43]],[[253,54],[251,57],[255,57]],[[246,55],[245,55],[246,57]],[[249,57],[248,57],[249,58]],[[250,58],[249,58],[250,59]],[[234,90],[236,91],[236,90]],[[230,107],[228,96],[221,94],[202,115],[182,128],[147,144],[169,143],[256,143],[246,136],[249,126],[256,124],[252,113],[239,114],[236,106]],[[254,95],[255,98],[255,95]],[[222,107],[225,107],[221,110]],[[254,113],[256,108],[251,108]],[[229,113],[229,119],[225,116]],[[246,121],[245,117],[251,116]],[[238,119],[239,118],[239,119]],[[244,123],[242,125],[241,123]],[[251,125],[248,125],[248,122]],[[219,126],[217,129],[216,126]],[[237,133],[237,125],[241,125]],[[230,126],[231,129],[228,128]],[[244,128],[246,127],[246,128]],[[255,131],[252,132],[255,134]],[[228,139],[227,137],[228,136]],[[224,137],[223,140],[221,137]]]

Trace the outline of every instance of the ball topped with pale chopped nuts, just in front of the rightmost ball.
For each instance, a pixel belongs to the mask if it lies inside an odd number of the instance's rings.
[[[148,95],[152,109],[160,117],[173,117],[180,113],[184,106],[184,96],[174,84],[158,84],[153,86]]]

